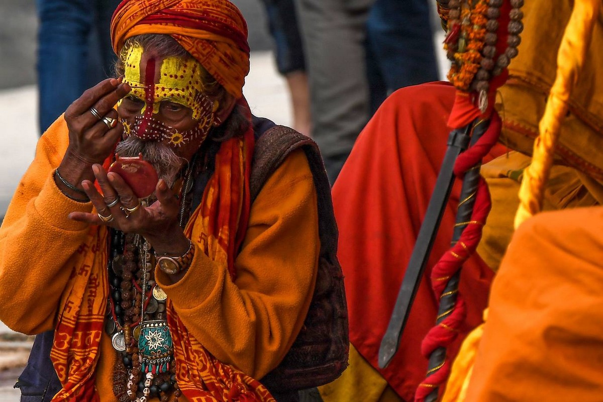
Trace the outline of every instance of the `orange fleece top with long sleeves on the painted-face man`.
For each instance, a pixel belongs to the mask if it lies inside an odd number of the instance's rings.
[[[52,172],[65,154],[63,118],[41,137],[36,158],[17,187],[0,228],[0,320],[34,334],[53,329],[58,303],[71,275],[66,266],[88,232],[69,212],[92,212],[91,203],[63,195]],[[195,338],[222,362],[254,378],[273,369],[303,325],[314,292],[320,241],[317,195],[308,160],[293,152],[266,181],[251,206],[247,234],[235,260],[237,278],[226,266],[196,253],[185,277],[168,285],[156,280]],[[115,400],[112,368],[116,352],[101,339],[96,386],[102,401]]]

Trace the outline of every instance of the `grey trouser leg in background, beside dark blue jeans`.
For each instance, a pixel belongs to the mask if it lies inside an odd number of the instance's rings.
[[[370,118],[365,40],[373,0],[296,0],[310,87],[312,137],[331,184]]]

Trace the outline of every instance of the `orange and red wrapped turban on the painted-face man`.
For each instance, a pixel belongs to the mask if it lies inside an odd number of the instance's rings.
[[[124,0],[111,21],[113,50],[141,34],[177,40],[235,98],[249,72],[247,24],[228,0]]]

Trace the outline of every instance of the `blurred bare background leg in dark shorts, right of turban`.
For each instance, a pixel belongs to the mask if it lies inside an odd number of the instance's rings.
[[[308,75],[293,0],[263,0],[274,39],[276,66],[285,77],[291,97],[292,127],[310,135]]]

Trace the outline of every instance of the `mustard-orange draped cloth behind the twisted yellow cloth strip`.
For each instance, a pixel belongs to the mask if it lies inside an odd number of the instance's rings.
[[[600,3],[600,2],[599,2]],[[502,142],[532,153],[546,98],[555,80],[557,52],[574,2],[526,1],[519,55],[509,66],[510,78],[499,89],[497,109],[504,120]],[[593,30],[581,74],[569,96],[569,115],[561,125],[556,160],[603,180],[603,19]]]

